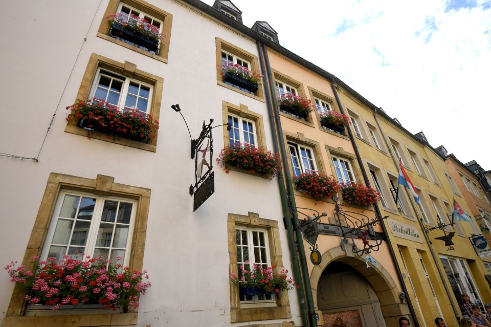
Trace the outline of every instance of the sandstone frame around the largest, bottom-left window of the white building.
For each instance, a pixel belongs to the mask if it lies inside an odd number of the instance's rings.
[[[97,175],[96,179],[89,179],[62,173],[50,173],[44,190],[41,204],[34,221],[29,243],[24,253],[23,265],[28,266],[33,256],[41,254],[46,235],[51,224],[53,211],[61,190],[90,192],[102,196],[115,196],[137,200],[135,227],[131,241],[131,254],[129,268],[142,270],[143,254],[150,205],[151,190],[143,187],[130,186],[114,182],[114,177]],[[24,316],[26,300],[25,292],[18,285],[14,287],[6,315],[3,320],[4,327],[30,327],[40,325],[49,319],[51,325],[70,326],[104,326],[104,325],[134,325],[138,321],[138,310],[128,308],[127,313],[95,313],[70,314],[46,316]]]

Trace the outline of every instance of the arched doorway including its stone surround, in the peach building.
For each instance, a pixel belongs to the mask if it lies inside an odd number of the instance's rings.
[[[400,316],[409,317],[413,324],[407,304],[399,299],[401,290],[392,276],[380,264],[367,268],[365,255],[353,256],[341,247],[330,248],[322,254],[321,264],[312,269],[310,285],[319,315],[339,312],[338,316],[357,318],[360,314],[361,327],[397,326]],[[352,295],[354,293],[356,296]],[[333,297],[338,299],[329,300]],[[338,320],[337,324],[324,325],[343,326],[342,318]],[[350,322],[346,326],[356,324]]]

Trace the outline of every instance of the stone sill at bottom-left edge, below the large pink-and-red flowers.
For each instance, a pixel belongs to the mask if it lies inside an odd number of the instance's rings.
[[[138,313],[63,315],[63,316],[6,316],[3,327],[51,326],[121,326],[136,325]]]

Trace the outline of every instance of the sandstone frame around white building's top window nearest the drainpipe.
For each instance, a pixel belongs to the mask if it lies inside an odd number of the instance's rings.
[[[227,88],[229,90],[238,92],[243,95],[247,95],[248,97],[251,97],[253,99],[259,100],[261,102],[264,102],[264,90],[263,90],[263,85],[258,85],[258,89],[255,94],[251,94],[242,90],[239,90],[235,88],[232,85],[229,85],[227,83],[224,83],[222,81],[221,77],[221,51],[224,50],[226,52],[231,53],[234,56],[237,56],[245,61],[248,61],[251,63],[251,71],[253,72],[261,72],[260,66],[259,66],[259,58],[252,54],[249,51],[246,51],[244,49],[241,49],[235,45],[233,45],[230,42],[227,42],[224,39],[221,39],[219,37],[215,37],[215,44],[216,44],[216,83],[218,85],[224,86],[224,88]],[[263,78],[263,84],[265,83],[265,78]]]

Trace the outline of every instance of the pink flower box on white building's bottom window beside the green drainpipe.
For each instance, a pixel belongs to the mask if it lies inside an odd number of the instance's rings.
[[[244,261],[239,266],[239,274],[231,274],[230,280],[233,285],[240,288],[239,292],[243,295],[256,294],[278,294],[281,291],[293,290],[296,286],[293,278],[288,278],[288,270],[274,273],[275,266],[263,267],[263,265],[252,265],[249,261]],[[297,288],[300,286],[297,285]]]

